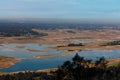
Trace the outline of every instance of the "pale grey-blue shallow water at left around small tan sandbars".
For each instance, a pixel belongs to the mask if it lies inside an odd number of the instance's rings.
[[[16,48],[16,46],[25,46],[23,49]],[[56,54],[63,53],[65,51],[57,51],[55,49],[48,50],[49,47],[53,47],[53,45],[39,45],[39,44],[4,44],[3,47],[0,48],[0,55],[16,57],[16,58],[34,58],[37,55],[44,54]],[[45,52],[29,52],[27,49],[35,49],[35,50],[43,50]]]

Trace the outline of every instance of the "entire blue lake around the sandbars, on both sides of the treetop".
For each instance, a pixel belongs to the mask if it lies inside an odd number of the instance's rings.
[[[16,58],[23,58],[21,62],[6,68],[0,69],[2,72],[15,72],[24,70],[38,70],[38,69],[48,69],[56,68],[61,65],[66,60],[71,60],[71,56],[56,56],[51,58],[35,59],[34,56],[45,55],[45,54],[62,54],[68,53],[66,50],[57,51],[54,45],[40,45],[40,44],[3,44],[0,46],[0,55],[10,56]],[[16,46],[25,46],[25,48],[16,48]],[[43,50],[44,52],[29,52],[27,49]],[[97,57],[105,57],[106,59],[120,58],[120,50],[94,50],[94,51],[81,51],[79,55],[85,57],[86,59],[96,60]]]

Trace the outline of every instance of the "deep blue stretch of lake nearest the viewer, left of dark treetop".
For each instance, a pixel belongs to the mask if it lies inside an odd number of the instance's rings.
[[[58,65],[61,65],[64,61],[70,60],[70,57],[54,57],[54,58],[44,58],[44,59],[26,59],[21,62],[16,63],[16,65],[1,69],[2,72],[15,72],[15,71],[24,71],[24,70],[39,70],[39,69],[48,69],[56,68]]]

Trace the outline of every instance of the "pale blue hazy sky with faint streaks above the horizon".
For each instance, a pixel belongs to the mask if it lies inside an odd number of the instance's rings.
[[[120,18],[120,0],[0,0],[0,18]]]

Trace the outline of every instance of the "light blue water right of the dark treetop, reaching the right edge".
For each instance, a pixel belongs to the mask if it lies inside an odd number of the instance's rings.
[[[120,58],[120,50],[91,50],[81,51],[79,55],[86,59],[96,60],[97,58],[104,57],[105,59]]]

